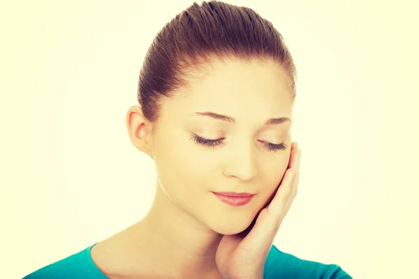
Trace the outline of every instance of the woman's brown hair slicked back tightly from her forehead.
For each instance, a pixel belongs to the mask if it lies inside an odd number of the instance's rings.
[[[296,70],[284,38],[271,22],[251,8],[221,1],[194,2],[168,22],[149,47],[138,80],[138,102],[144,116],[156,121],[163,98],[188,86],[198,68],[211,59],[270,59],[288,75],[295,99]]]

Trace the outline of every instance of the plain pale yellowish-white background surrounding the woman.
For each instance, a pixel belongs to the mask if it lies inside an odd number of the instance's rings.
[[[416,1],[226,2],[270,20],[299,73],[300,188],[274,244],[354,278],[415,277]],[[1,278],[147,213],[154,165],[129,142],[126,110],[152,39],[191,3],[1,3]]]

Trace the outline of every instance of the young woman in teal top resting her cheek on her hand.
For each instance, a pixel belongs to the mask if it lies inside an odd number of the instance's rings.
[[[351,278],[272,245],[297,193],[295,78],[280,33],[250,8],[179,13],[149,48],[140,106],[126,114],[156,165],[147,216],[25,278]]]

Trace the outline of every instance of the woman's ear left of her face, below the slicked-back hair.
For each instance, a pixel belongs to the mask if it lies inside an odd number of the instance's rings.
[[[126,113],[126,129],[133,146],[153,159],[152,123],[142,113],[142,108],[133,105]]]

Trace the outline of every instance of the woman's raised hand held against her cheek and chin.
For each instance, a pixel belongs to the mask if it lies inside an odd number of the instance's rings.
[[[247,230],[224,235],[216,251],[216,265],[224,279],[262,279],[267,254],[295,195],[300,171],[300,155],[296,142],[277,193],[270,204],[260,211]]]

